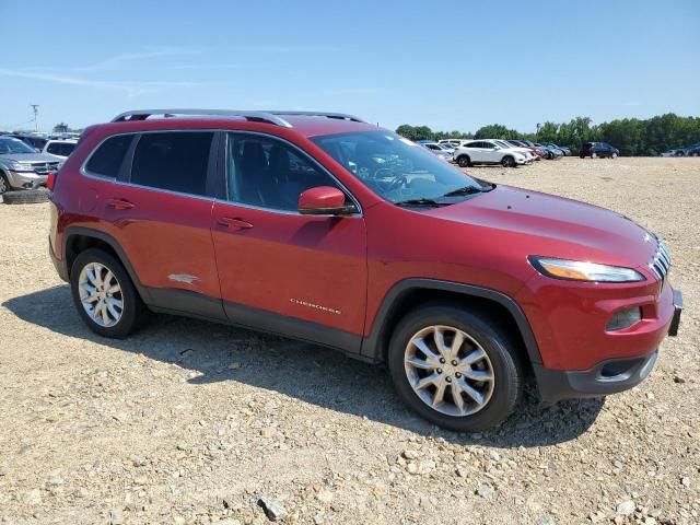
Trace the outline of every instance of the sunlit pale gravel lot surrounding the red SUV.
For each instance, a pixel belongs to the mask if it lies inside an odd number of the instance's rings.
[[[0,523],[700,523],[700,160],[474,168],[660,232],[680,337],[634,390],[528,395],[483,434],[408,413],[383,370],[225,326],[156,317],[100,339],[46,254],[48,206],[0,205]]]

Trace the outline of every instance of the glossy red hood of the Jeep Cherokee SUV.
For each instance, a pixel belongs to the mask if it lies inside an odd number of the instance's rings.
[[[436,208],[431,215],[482,226],[494,241],[523,255],[590,260],[628,267],[646,266],[653,235],[617,212],[572,199],[498,186],[458,205]],[[477,232],[474,232],[475,234]]]

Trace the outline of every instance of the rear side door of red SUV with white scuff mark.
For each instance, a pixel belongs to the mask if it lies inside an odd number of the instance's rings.
[[[207,189],[214,137],[140,135],[130,147],[130,170],[101,199],[113,236],[154,306],[223,319]]]

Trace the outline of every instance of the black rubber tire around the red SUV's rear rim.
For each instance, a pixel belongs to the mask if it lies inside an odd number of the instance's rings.
[[[98,262],[110,270],[116,277],[121,289],[121,301],[124,310],[119,320],[109,327],[102,326],[88,314],[80,300],[79,279],[82,269],[90,262]],[[73,303],[78,313],[88,327],[95,334],[113,339],[122,339],[138,330],[148,320],[148,308],[141,301],[129,275],[113,255],[98,249],[90,248],[81,252],[70,270],[70,288],[73,295]]]

